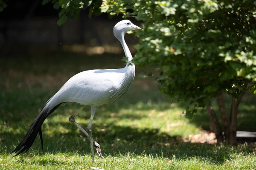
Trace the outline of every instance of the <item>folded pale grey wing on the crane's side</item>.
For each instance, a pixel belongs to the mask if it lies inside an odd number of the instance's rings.
[[[52,102],[56,101],[54,105],[62,102],[95,106],[105,104],[124,77],[124,73],[119,70],[90,70],[76,74],[61,87],[51,100]]]

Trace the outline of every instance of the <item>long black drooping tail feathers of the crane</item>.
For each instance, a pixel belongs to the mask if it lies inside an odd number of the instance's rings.
[[[61,106],[62,103],[58,104],[52,109],[47,109],[44,107],[42,108],[41,112],[39,113],[38,117],[35,119],[35,121],[30,126],[28,132],[26,133],[24,139],[20,142],[20,144],[12,151],[12,153],[17,153],[15,156],[19,155],[20,153],[26,152],[29,150],[29,148],[32,146],[32,144],[35,141],[35,138],[37,134],[39,133],[40,140],[41,140],[41,146],[43,149],[43,136],[42,136],[42,130],[41,126],[44,122],[44,120],[54,112],[58,107]]]

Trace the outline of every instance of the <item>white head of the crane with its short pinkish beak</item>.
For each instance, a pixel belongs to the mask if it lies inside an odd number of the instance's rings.
[[[134,30],[134,29],[141,29],[138,26],[135,26],[131,21],[129,20],[122,20],[113,28],[113,34],[118,39],[121,40],[122,35],[124,36],[127,31]]]

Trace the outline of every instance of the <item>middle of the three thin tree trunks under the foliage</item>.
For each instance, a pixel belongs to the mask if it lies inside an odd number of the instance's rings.
[[[222,93],[219,93],[216,96],[216,102],[218,104],[219,111],[221,113],[221,119],[222,119],[222,124],[224,127],[224,140],[225,144],[230,143],[230,118],[227,112],[227,108],[224,103],[223,95]]]

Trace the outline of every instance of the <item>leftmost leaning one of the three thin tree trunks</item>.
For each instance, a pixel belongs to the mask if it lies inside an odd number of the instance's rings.
[[[211,102],[206,105],[207,113],[210,120],[210,125],[212,126],[213,132],[215,133],[216,139],[218,143],[223,142],[223,135],[221,131],[221,126],[218,122],[215,111],[212,108]]]

